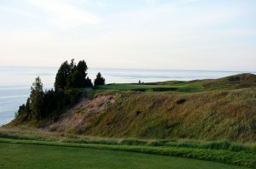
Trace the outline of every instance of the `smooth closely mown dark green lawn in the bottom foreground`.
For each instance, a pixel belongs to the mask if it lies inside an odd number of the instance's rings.
[[[146,155],[105,149],[75,147],[0,144],[1,169],[241,169],[210,161]]]

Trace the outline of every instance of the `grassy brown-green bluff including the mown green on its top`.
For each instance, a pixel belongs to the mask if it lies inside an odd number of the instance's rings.
[[[116,96],[113,104],[104,104],[104,109],[91,115],[92,109],[85,106],[74,110],[90,120],[72,129],[61,124],[64,130],[107,138],[256,142],[256,76],[252,74],[191,82],[111,84],[97,90]]]

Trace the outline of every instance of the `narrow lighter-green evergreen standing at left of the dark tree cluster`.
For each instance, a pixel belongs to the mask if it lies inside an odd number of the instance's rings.
[[[30,94],[30,110],[32,118],[41,119],[42,105],[44,99],[43,83],[40,77],[36,78],[36,81],[32,84]]]

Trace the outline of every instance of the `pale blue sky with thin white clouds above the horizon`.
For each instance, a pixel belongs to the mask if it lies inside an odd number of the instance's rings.
[[[0,0],[0,65],[256,70],[255,0]]]

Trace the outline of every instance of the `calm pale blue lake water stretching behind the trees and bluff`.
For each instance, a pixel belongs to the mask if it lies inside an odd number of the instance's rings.
[[[40,76],[44,89],[53,87],[54,67],[10,67],[0,66],[0,126],[13,120],[20,104],[26,103],[32,82]],[[169,80],[214,79],[230,76],[238,71],[203,71],[203,70],[137,70],[137,69],[100,69],[88,70],[88,76],[94,79],[101,71],[107,83],[114,82],[162,82]],[[251,72],[255,73],[255,72]]]

